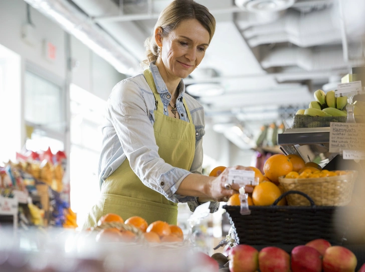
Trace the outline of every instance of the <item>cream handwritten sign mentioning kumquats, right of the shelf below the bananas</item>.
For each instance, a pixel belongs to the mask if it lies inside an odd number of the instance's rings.
[[[331,122],[329,152],[344,150],[365,151],[365,124]]]

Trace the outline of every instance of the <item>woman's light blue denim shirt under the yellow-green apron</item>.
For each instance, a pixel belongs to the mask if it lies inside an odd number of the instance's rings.
[[[168,115],[167,105],[171,95],[154,62],[150,64],[150,69],[163,104],[157,107],[166,109],[163,112]],[[188,120],[182,97],[185,97],[193,120]],[[172,202],[188,202],[190,210],[195,210],[199,205],[197,197],[181,196],[175,192],[189,174],[202,174],[205,116],[203,106],[185,93],[182,80],[178,85],[176,108],[181,120],[193,121],[195,125],[195,156],[190,171],[172,167],[158,155],[153,131],[155,99],[144,75],[141,73],[124,79],[114,86],[107,102],[105,123],[102,125],[103,140],[98,167],[100,186],[127,158],[133,172],[145,186]],[[211,203],[211,212],[218,208],[219,202]]]

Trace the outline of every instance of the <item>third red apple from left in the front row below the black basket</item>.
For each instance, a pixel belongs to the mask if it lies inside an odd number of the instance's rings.
[[[317,249],[298,245],[291,251],[292,272],[321,272],[322,255]]]

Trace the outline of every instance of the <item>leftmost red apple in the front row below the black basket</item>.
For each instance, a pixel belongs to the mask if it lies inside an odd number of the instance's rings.
[[[228,253],[231,272],[255,272],[259,268],[259,251],[246,244],[232,247]]]

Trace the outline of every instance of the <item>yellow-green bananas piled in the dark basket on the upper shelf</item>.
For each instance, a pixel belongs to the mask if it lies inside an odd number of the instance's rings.
[[[315,101],[311,101],[307,109],[299,109],[296,114],[309,116],[347,116],[343,108],[347,104],[347,96],[335,97],[334,91],[325,93],[322,90],[314,92]]]

